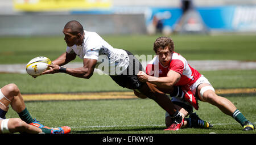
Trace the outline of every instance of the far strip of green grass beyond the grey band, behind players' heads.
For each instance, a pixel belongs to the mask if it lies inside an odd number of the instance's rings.
[[[114,48],[127,49],[133,54],[153,52],[153,43],[159,36],[102,36]],[[255,61],[256,36],[175,35],[175,51],[187,60],[234,59]],[[63,36],[59,37],[0,37],[0,63],[27,63],[34,57],[56,59],[65,52]],[[76,58],[76,61],[81,61]]]

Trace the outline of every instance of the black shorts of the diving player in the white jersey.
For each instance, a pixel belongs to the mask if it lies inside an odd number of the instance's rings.
[[[139,89],[145,83],[139,81],[137,74],[139,71],[143,71],[144,69],[141,65],[141,62],[139,62],[139,60],[134,57],[132,53],[127,50],[125,51],[129,55],[129,66],[122,72],[122,74],[110,75],[110,77],[114,80],[115,83],[123,88]]]

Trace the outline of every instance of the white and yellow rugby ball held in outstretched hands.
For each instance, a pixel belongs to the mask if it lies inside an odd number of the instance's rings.
[[[47,57],[36,57],[27,63],[26,71],[29,75],[41,75],[44,70],[48,70],[47,65],[51,65],[52,61]]]

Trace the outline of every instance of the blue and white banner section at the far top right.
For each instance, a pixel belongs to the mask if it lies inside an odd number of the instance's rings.
[[[197,8],[210,29],[256,31],[256,6],[222,6]]]

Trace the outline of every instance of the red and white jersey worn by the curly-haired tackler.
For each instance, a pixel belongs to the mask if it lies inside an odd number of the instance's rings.
[[[189,85],[189,87],[200,78],[201,74],[193,67],[189,66],[187,60],[180,54],[174,52],[169,66],[162,66],[158,56],[155,56],[150,63],[147,64],[146,73],[155,77],[165,77],[168,71],[176,71],[181,74],[179,82],[175,86]]]

